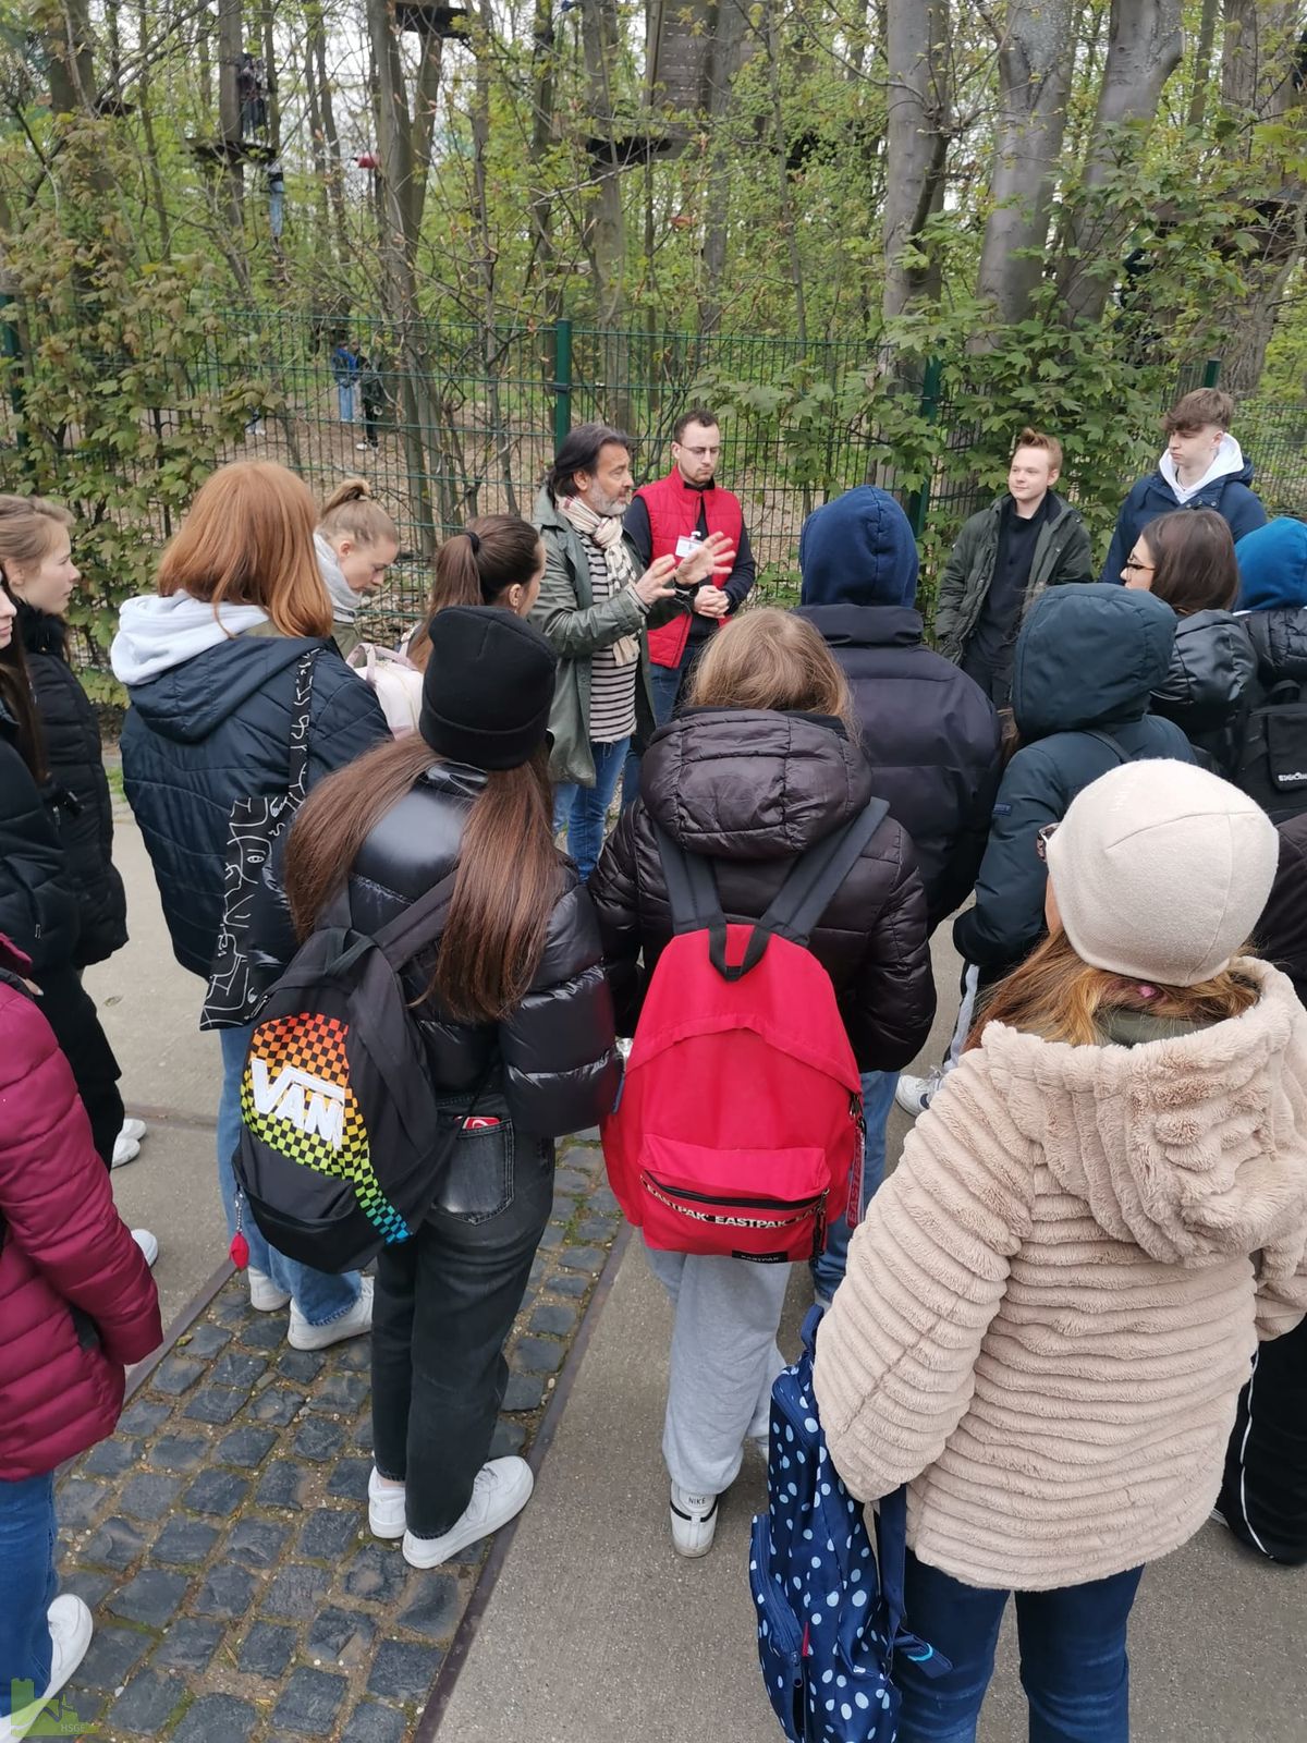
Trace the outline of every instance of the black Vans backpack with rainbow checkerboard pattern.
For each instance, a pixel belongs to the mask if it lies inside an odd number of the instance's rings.
[[[399,981],[439,938],[453,882],[450,873],[375,938],[336,898],[254,1025],[235,1175],[268,1243],[315,1271],[356,1271],[406,1241],[453,1156],[464,1116],[437,1110]]]

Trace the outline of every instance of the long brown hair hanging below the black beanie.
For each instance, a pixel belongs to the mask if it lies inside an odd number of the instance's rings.
[[[420,737],[378,744],[312,790],[286,844],[286,896],[296,934],[345,884],[359,849],[432,763]],[[519,769],[486,770],[458,849],[450,915],[423,999],[464,1023],[502,1021],[526,997],[559,892],[549,751]]]

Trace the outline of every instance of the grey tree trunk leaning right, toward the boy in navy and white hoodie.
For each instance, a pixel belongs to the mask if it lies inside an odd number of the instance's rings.
[[[1115,129],[1157,115],[1162,85],[1185,49],[1180,12],[1180,0],[1112,0],[1107,64],[1084,173],[1087,195],[1107,181],[1117,162]],[[1061,284],[1068,321],[1101,321],[1114,282],[1105,268],[1115,261],[1119,244],[1119,225],[1105,223],[1091,199],[1070,225]]]

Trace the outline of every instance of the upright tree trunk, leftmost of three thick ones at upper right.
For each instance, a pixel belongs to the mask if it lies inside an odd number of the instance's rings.
[[[885,288],[882,321],[939,291],[939,265],[906,261],[945,187],[948,155],[948,0],[889,0],[885,59]]]

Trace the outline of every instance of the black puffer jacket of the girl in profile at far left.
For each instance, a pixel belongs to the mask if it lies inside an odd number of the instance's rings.
[[[113,805],[91,699],[68,664],[68,626],[19,601],[19,633],[45,732],[59,840],[82,908],[73,964],[103,962],[127,943],[127,896],[113,865]]]

